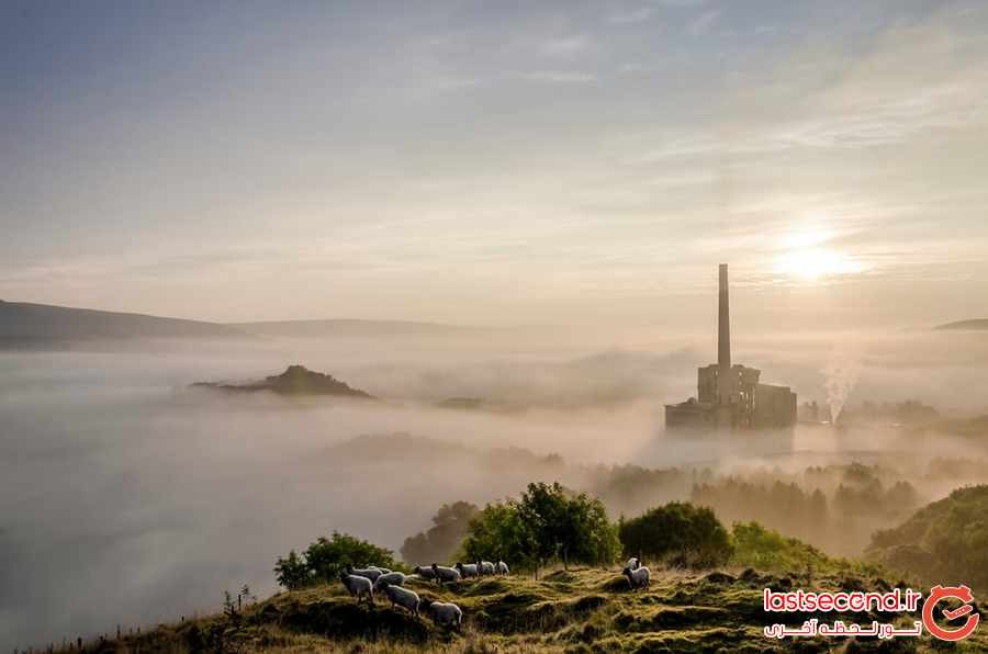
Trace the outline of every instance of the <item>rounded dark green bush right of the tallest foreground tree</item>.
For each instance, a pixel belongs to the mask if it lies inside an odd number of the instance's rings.
[[[620,520],[618,534],[627,556],[681,567],[715,567],[731,556],[731,539],[714,511],[685,501]]]

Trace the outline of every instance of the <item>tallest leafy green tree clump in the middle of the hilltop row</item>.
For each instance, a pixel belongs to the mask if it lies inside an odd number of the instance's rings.
[[[467,561],[512,562],[515,568],[551,563],[606,565],[620,552],[617,529],[604,504],[559,483],[534,483],[520,499],[489,504],[473,520],[461,545]]]

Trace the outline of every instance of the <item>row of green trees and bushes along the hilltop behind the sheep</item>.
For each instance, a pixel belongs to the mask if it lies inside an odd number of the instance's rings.
[[[444,505],[434,522],[428,531],[405,541],[403,553],[408,556],[404,563],[395,561],[384,548],[334,533],[318,539],[301,554],[292,551],[279,557],[274,566],[278,583],[295,589],[332,583],[348,565],[407,572],[409,565],[428,566],[453,560],[505,561],[513,571],[536,577],[549,566],[606,567],[628,556],[704,568],[723,565],[737,553],[736,535],[709,508],[674,501],[630,519],[611,521],[598,498],[574,493],[559,483],[529,484],[518,498],[491,503],[483,509],[469,503]],[[462,540],[453,545],[464,522]],[[749,549],[753,542],[772,540],[760,541],[752,533],[783,538],[759,526],[736,526],[736,530],[739,528],[746,529],[739,532],[745,537],[739,542]],[[431,556],[411,559],[414,554]]]

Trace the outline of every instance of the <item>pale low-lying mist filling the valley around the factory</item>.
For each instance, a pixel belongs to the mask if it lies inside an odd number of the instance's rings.
[[[37,645],[212,610],[245,583],[272,591],[277,556],[321,534],[397,551],[441,504],[483,505],[537,480],[595,493],[614,518],[693,498],[727,522],[757,518],[856,554],[875,528],[988,477],[970,464],[988,438],[898,425],[666,433],[662,405],[695,394],[704,339],[515,336],[0,354],[0,634]],[[849,357],[851,404],[988,413],[983,335],[775,335],[736,350],[820,403],[830,363]],[[290,363],[381,402],[188,387]],[[452,397],[483,403],[437,406]],[[739,488],[751,501],[731,500]],[[815,530],[805,511],[817,489],[832,519]]]

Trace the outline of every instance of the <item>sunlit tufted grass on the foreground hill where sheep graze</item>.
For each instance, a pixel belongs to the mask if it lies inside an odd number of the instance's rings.
[[[557,572],[539,580],[512,576],[463,582],[439,588],[411,580],[423,598],[453,601],[464,612],[460,630],[448,631],[428,618],[415,619],[379,599],[358,607],[339,585],[281,593],[245,609],[239,618],[211,616],[162,624],[141,635],[90,643],[88,652],[843,652],[932,651],[919,641],[786,640],[763,635],[779,621],[762,611],[762,589],[882,589],[883,578],[853,565],[831,562],[811,580],[788,574],[730,567],[720,571],[655,571],[650,589],[631,591],[617,570]],[[811,616],[847,622],[890,621],[861,613]],[[801,624],[806,614],[789,614]],[[906,619],[906,618],[902,618]],[[958,651],[988,649],[988,631]]]

